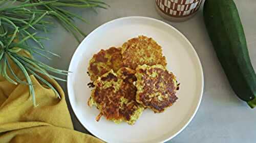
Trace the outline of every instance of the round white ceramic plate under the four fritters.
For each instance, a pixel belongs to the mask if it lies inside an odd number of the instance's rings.
[[[181,83],[178,100],[163,113],[144,110],[131,126],[114,124],[104,117],[95,121],[99,111],[87,105],[91,89],[87,83],[89,60],[100,49],[119,47],[125,41],[144,35],[152,37],[163,48],[167,68]],[[69,100],[81,124],[106,142],[164,142],[180,133],[195,116],[203,93],[203,71],[198,55],[190,42],[174,27],[147,17],[124,17],[105,23],[88,35],[76,49],[68,76]]]

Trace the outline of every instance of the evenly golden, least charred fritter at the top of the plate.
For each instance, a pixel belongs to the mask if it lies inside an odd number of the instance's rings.
[[[122,45],[123,64],[125,67],[136,69],[138,65],[163,65],[166,66],[162,48],[152,38],[139,36]]]

